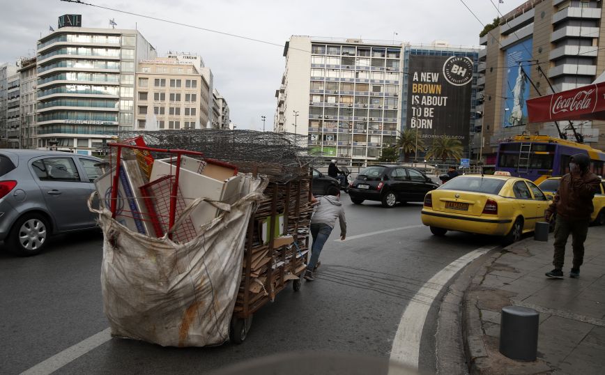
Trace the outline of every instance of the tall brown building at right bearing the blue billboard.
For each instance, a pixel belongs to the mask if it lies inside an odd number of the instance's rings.
[[[602,1],[531,0],[500,17],[480,38],[477,99],[482,120],[473,140],[493,164],[500,142],[522,132],[574,140],[569,123],[527,123],[529,98],[590,84],[605,69]],[[552,87],[552,89],[551,89]],[[605,148],[603,121],[572,123],[592,147]],[[557,129],[559,126],[559,130]]]

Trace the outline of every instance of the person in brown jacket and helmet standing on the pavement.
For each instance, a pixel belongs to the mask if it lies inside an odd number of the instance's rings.
[[[574,261],[569,277],[580,277],[580,266],[584,260],[584,241],[588,234],[590,214],[594,211],[592,197],[599,189],[601,179],[588,170],[590,159],[587,155],[576,154],[569,159],[569,173],[561,178],[559,189],[553,203],[544,212],[546,221],[550,221],[556,213],[555,223],[555,254],[553,257],[554,270],[546,276],[561,279],[563,277],[563,261],[565,260],[565,244],[567,237],[572,234]]]

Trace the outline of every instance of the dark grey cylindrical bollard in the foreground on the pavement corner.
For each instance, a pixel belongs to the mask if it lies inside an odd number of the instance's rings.
[[[512,360],[536,360],[539,312],[507,306],[500,314],[500,353]]]

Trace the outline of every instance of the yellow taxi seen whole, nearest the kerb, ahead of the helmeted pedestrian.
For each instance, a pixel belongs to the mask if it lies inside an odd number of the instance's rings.
[[[503,236],[508,245],[533,231],[550,203],[535,183],[509,172],[467,174],[426,194],[422,224],[436,236],[464,231]]]

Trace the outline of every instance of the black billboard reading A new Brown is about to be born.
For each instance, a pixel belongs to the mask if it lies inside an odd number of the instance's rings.
[[[464,56],[410,55],[406,127],[420,138],[468,143],[473,61]]]

